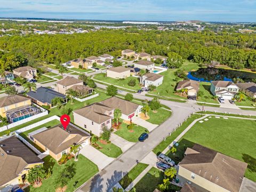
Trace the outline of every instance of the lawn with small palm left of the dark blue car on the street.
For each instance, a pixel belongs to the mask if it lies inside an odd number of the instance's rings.
[[[118,136],[126,139],[127,141],[131,141],[131,142],[137,142],[140,135],[144,132],[148,133],[148,130],[140,125],[135,125],[133,132],[131,133],[128,129],[127,129],[127,124],[122,123],[121,124],[121,128],[116,131],[114,134],[117,134]]]

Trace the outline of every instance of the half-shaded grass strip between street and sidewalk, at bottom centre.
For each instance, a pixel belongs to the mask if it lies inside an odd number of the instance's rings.
[[[123,187],[123,189],[126,189],[130,183],[136,179],[139,174],[147,168],[148,164],[145,163],[138,163],[135,165],[129,173],[125,175],[123,179],[119,181],[120,185]]]

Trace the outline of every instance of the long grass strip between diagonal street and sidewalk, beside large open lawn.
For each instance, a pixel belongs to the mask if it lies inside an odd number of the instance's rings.
[[[186,122],[184,122],[176,131],[174,131],[171,136],[167,137],[165,139],[165,141],[162,141],[161,143],[159,143],[158,146],[156,146],[154,149],[153,149],[153,152],[155,154],[159,154],[159,153],[162,153],[162,151],[168,147],[172,141],[177,138],[179,136],[179,134],[184,131],[188,125],[190,125],[195,119],[199,118],[200,115],[191,115],[190,118],[187,119]]]

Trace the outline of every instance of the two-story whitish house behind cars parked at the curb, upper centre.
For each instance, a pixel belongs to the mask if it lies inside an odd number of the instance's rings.
[[[159,75],[155,73],[147,73],[146,75],[142,76],[141,84],[145,87],[148,87],[149,85],[159,86],[159,85],[162,85],[163,80],[164,80],[163,75]]]

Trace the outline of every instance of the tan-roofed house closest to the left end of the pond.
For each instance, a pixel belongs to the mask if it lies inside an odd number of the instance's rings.
[[[176,91],[180,91],[182,89],[188,90],[188,96],[196,96],[197,92],[199,91],[199,82],[193,81],[191,79],[180,81],[177,85]]]

